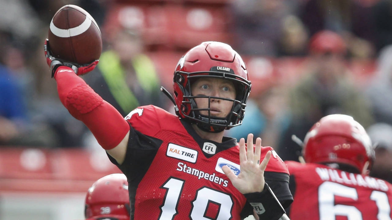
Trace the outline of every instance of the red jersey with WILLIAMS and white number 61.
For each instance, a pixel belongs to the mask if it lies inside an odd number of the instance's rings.
[[[291,220],[391,220],[392,185],[382,179],[286,161]]]

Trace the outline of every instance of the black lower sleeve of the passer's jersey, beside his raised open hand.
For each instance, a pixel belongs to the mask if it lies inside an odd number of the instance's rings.
[[[264,172],[265,182],[270,186],[276,198],[282,204],[283,208],[287,208],[293,202],[293,196],[289,189],[289,174],[278,172]]]

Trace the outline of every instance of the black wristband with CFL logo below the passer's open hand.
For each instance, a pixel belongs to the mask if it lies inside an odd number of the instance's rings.
[[[262,192],[246,193],[244,196],[250,205],[253,206],[260,219],[278,220],[286,213],[267,183],[264,184]]]

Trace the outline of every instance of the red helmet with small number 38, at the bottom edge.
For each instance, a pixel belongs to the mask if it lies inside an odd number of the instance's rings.
[[[85,218],[129,220],[127,177],[114,173],[102,177],[89,188],[85,200]]]

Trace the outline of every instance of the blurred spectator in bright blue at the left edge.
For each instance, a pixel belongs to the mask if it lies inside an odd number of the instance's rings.
[[[54,133],[31,120],[34,77],[25,63],[23,43],[14,33],[0,31],[0,144],[54,146]]]

